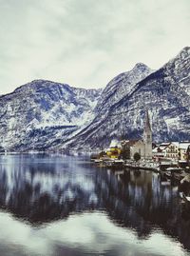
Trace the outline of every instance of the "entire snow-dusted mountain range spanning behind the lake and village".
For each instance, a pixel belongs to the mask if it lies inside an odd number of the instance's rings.
[[[190,138],[190,48],[161,69],[137,64],[104,90],[36,80],[0,96],[0,147],[101,148],[142,136],[144,110],[153,139]]]

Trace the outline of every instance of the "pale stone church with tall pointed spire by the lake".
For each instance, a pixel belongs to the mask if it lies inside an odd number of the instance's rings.
[[[152,159],[152,129],[150,126],[150,119],[148,110],[145,112],[145,122],[143,129],[143,138],[140,140],[130,141],[130,158],[138,152],[144,159]]]

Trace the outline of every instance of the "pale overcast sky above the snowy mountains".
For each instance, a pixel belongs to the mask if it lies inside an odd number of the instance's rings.
[[[0,0],[0,93],[34,79],[101,88],[190,42],[189,0]]]

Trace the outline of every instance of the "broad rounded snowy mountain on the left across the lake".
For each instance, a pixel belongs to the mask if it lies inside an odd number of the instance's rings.
[[[47,148],[94,117],[101,89],[76,89],[35,80],[0,97],[1,147]]]

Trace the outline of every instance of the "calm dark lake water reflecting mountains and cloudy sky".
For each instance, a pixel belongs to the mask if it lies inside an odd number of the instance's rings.
[[[1,155],[0,255],[190,255],[190,218],[151,171]]]

